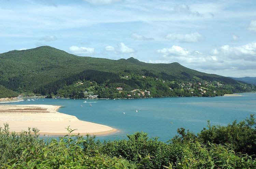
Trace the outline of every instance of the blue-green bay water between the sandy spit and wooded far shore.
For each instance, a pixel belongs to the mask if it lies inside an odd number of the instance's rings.
[[[207,120],[210,120],[212,125],[227,125],[235,119],[240,121],[250,114],[256,114],[256,93],[241,95],[121,100],[45,98],[10,104],[59,105],[62,106],[58,110],[61,113],[120,130],[110,135],[97,136],[100,140],[126,139],[126,134],[144,131],[150,137],[167,141],[177,134],[176,130],[180,127],[198,133],[206,127]],[[96,103],[89,106],[89,103],[83,101]],[[83,107],[80,107],[81,104]]]

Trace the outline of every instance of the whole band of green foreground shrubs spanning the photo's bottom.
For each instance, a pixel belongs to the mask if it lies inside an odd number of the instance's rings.
[[[256,168],[256,120],[254,115],[227,126],[208,122],[197,135],[177,129],[168,142],[136,132],[127,139],[104,141],[95,136],[72,135],[41,138],[37,129],[19,135],[0,128],[1,168],[115,168],[194,169]]]

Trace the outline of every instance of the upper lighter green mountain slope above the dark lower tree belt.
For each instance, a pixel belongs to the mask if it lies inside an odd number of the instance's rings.
[[[86,72],[93,71],[100,71],[100,73],[84,75]],[[106,73],[112,73],[111,79],[103,77]],[[98,81],[91,78],[93,74],[97,76]],[[129,78],[122,79],[123,76],[129,76]],[[141,76],[148,78],[142,79]],[[104,80],[102,81],[102,79]],[[155,79],[160,79],[162,82],[167,81],[168,84],[162,85],[160,82],[155,82]],[[33,91],[41,94],[56,93],[77,80],[96,81],[102,89],[114,84],[112,88],[119,85],[127,90],[152,89],[161,90],[163,93],[169,90],[172,83],[181,86],[186,82],[196,84],[197,82],[211,81],[216,84],[227,84],[231,85],[229,86],[229,89],[233,89],[231,92],[245,92],[253,88],[228,77],[188,69],[177,62],[154,64],[144,63],[132,57],[119,60],[80,57],[50,46],[0,54],[0,84],[11,90]],[[180,89],[180,91],[183,90]],[[167,96],[171,95],[169,93]],[[160,94],[159,96],[164,95]]]

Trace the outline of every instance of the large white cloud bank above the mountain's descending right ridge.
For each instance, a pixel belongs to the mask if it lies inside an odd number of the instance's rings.
[[[256,42],[242,46],[223,45],[213,49],[211,53],[201,53],[173,45],[171,48],[159,49],[157,53],[162,54],[162,57],[159,60],[148,60],[148,62],[179,62],[199,71],[207,70],[211,73],[221,72],[221,70],[227,71],[225,75],[230,73],[228,76],[232,76],[232,72],[239,74],[240,71],[249,72],[248,70],[252,70],[253,72],[256,70]],[[252,72],[251,74],[253,74]],[[223,73],[219,74],[224,75]]]

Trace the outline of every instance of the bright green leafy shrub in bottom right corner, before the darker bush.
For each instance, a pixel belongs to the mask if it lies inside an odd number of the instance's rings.
[[[230,147],[200,142],[190,142],[183,148],[182,159],[175,165],[169,164],[168,169],[190,168],[227,168],[227,169],[250,169],[256,167],[252,156],[236,154]]]

